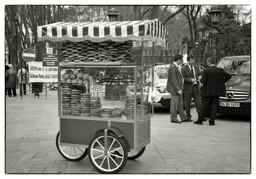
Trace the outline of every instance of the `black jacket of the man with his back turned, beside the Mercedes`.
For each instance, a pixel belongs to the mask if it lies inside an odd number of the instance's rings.
[[[201,89],[201,97],[206,96],[223,96],[226,95],[225,83],[231,78],[222,68],[217,68],[215,65],[204,69],[203,77],[200,79],[203,83]]]

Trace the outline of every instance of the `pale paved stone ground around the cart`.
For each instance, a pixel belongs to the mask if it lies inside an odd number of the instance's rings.
[[[193,105],[192,116],[196,110]],[[69,162],[55,146],[57,92],[6,97],[6,173],[98,173],[88,159]],[[250,117],[218,115],[216,126],[170,123],[156,107],[151,143],[120,173],[250,173]]]

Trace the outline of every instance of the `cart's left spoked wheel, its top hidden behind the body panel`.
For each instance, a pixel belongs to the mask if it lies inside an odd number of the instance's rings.
[[[59,131],[56,136],[56,146],[61,156],[68,161],[78,162],[88,154],[87,148],[60,145]]]

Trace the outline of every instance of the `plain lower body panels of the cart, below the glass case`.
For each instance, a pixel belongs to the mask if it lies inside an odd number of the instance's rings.
[[[80,119],[77,119],[80,118]],[[121,135],[127,149],[137,152],[150,143],[150,117],[143,122],[111,118],[60,117],[60,143],[70,146],[88,146],[95,133],[109,129],[117,136]]]

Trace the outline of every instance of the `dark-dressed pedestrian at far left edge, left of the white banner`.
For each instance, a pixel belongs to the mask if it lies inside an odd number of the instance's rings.
[[[7,81],[5,83],[5,87],[7,88],[7,93],[8,96],[11,97],[12,94],[13,96],[17,96],[16,94],[16,82],[18,82],[18,77],[16,72],[14,71],[13,66],[11,66],[11,68],[7,71]]]

